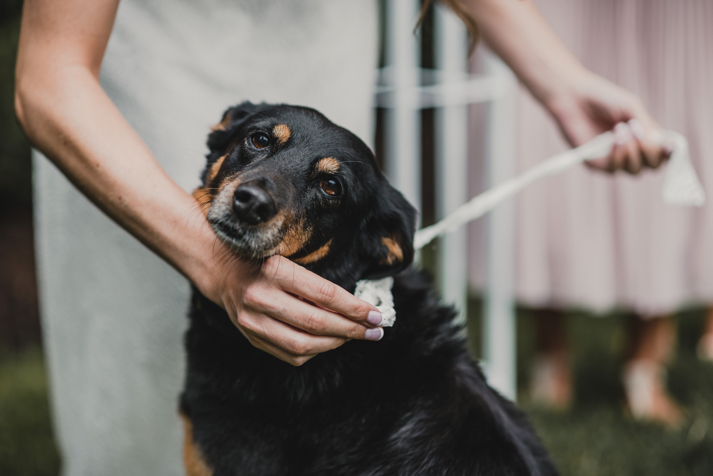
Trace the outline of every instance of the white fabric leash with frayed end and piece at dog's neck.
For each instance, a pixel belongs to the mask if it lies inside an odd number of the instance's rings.
[[[668,145],[672,149],[662,189],[664,202],[669,205],[686,207],[700,207],[703,205],[706,195],[691,164],[686,138],[672,130],[664,130],[657,133],[654,139],[657,144]],[[535,182],[535,180],[563,172],[573,165],[585,162],[585,160],[606,157],[611,152],[614,144],[615,135],[613,133],[606,132],[597,135],[597,137],[588,143],[580,145],[578,148],[553,155],[553,157],[544,160],[535,165],[535,167],[531,167],[522,174],[501,182],[456,208],[440,222],[432,224],[430,227],[419,229],[414,237],[414,249],[421,249],[434,238],[454,232],[464,224],[482,217],[504,200],[520,192],[530,183]],[[393,284],[394,280],[391,278],[364,279],[356,283],[356,289],[354,290],[354,296],[377,306],[381,311],[382,315],[384,315],[384,324],[381,324],[382,326],[392,326],[396,320],[396,312],[393,308],[394,299],[391,296],[391,286]],[[386,294],[388,294],[388,297],[386,297]],[[390,307],[386,305],[387,302],[391,303]],[[387,314],[389,319],[386,319]]]

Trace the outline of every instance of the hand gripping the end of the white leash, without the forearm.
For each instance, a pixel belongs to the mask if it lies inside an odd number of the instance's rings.
[[[654,142],[653,136],[660,127],[641,101],[593,73],[587,72],[573,81],[570,90],[552,95],[545,107],[573,146],[614,130],[616,144],[611,154],[588,161],[590,167],[635,174],[643,167],[658,167],[670,155],[670,149]]]

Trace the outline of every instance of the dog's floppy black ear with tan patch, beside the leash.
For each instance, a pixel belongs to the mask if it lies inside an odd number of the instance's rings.
[[[361,227],[361,259],[369,263],[365,279],[394,275],[414,260],[416,210],[386,180],[380,188]]]

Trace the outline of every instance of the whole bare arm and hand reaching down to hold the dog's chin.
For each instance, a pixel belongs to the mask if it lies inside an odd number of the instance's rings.
[[[347,338],[364,338],[374,306],[282,257],[255,271],[235,262],[193,197],[166,175],[104,93],[98,74],[117,6],[118,0],[25,1],[15,104],[33,145],[106,214],[223,306],[253,345],[301,364]],[[319,335],[284,324],[287,315]]]

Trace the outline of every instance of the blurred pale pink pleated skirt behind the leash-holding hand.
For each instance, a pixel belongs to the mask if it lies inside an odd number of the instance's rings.
[[[664,205],[664,170],[611,177],[577,167],[533,185],[518,197],[518,298],[643,316],[713,303],[713,2],[536,1],[585,66],[687,136],[709,201]],[[565,148],[523,93],[520,170]]]

